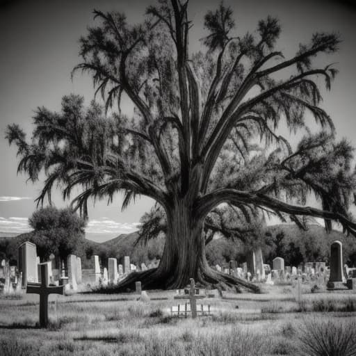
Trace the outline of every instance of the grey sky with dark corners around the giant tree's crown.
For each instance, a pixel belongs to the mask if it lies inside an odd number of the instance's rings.
[[[204,37],[203,17],[220,1],[191,0],[188,15],[193,21],[191,51],[200,49]],[[35,207],[42,181],[26,182],[17,175],[16,148],[4,139],[8,124],[16,123],[31,136],[32,117],[38,106],[60,109],[60,99],[80,94],[88,104],[94,90],[89,76],[70,72],[79,63],[79,38],[95,24],[92,10],[120,11],[129,22],[143,20],[145,8],[154,1],[139,0],[0,0],[0,232],[17,234],[29,230],[27,219]],[[234,10],[236,32],[253,32],[259,19],[273,15],[280,19],[282,34],[277,49],[293,56],[300,42],[307,43],[316,31],[335,31],[343,42],[337,54],[321,58],[325,65],[335,63],[339,75],[332,90],[323,93],[323,108],[334,120],[337,138],[346,137],[356,147],[356,7],[351,1],[327,0],[233,0],[224,1]],[[291,140],[296,138],[291,137]],[[43,177],[42,177],[43,178]],[[66,207],[60,193],[54,193],[56,207]],[[147,197],[121,211],[122,195],[112,204],[96,202],[89,207],[87,237],[105,241],[137,229],[140,217],[154,204]],[[314,202],[312,202],[314,204]],[[316,203],[315,203],[316,204]]]

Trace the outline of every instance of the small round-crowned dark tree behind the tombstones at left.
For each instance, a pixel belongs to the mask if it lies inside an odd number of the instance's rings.
[[[83,243],[86,220],[72,209],[46,207],[32,214],[29,225],[34,229],[29,239],[36,244],[40,259],[53,253],[65,261]]]

